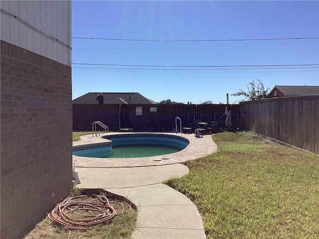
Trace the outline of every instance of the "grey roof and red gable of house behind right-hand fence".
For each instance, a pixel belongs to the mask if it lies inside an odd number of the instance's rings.
[[[319,86],[275,86],[267,98],[311,95],[319,95]]]

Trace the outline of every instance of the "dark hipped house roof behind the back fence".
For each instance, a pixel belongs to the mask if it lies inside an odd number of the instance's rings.
[[[72,101],[72,104],[98,104],[96,100],[100,92],[89,92]],[[102,92],[104,104],[157,104],[140,93],[108,93]],[[131,97],[131,98],[130,98]]]

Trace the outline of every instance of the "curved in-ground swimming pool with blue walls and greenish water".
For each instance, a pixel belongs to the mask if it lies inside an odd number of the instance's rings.
[[[94,158],[138,158],[181,151],[189,140],[166,134],[113,134],[103,136],[104,143],[73,147],[73,155]]]

